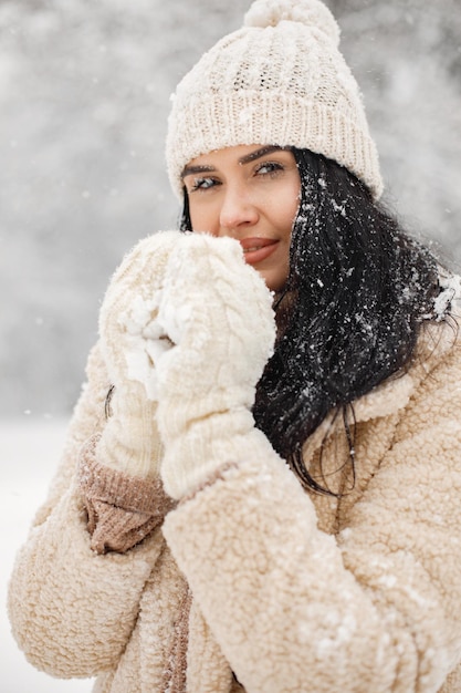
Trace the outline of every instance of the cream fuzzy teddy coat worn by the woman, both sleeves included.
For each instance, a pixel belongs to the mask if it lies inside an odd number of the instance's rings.
[[[305,492],[262,448],[170,505],[135,548],[98,555],[75,470],[108,386],[96,345],[10,582],[30,662],[97,676],[98,693],[461,692],[461,350],[449,324],[429,324],[409,372],[355,403],[355,483],[337,462],[339,422],[306,442],[319,474],[326,436],[323,475],[340,499]]]

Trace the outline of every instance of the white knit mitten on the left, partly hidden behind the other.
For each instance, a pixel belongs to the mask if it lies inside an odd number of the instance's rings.
[[[112,415],[95,453],[98,462],[140,478],[158,476],[161,442],[156,422],[154,361],[159,291],[179,231],[138,242],[115,271],[99,311],[99,341],[111,382]]]

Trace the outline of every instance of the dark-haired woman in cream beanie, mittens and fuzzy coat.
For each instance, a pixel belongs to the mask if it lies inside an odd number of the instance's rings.
[[[378,203],[337,43],[318,0],[258,0],[178,86],[188,232],[113,277],[10,585],[53,675],[461,691],[459,281]]]

